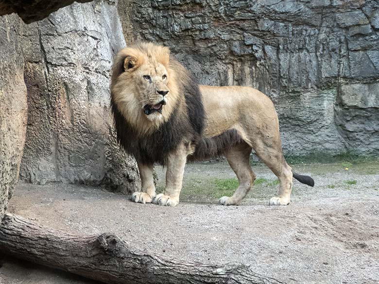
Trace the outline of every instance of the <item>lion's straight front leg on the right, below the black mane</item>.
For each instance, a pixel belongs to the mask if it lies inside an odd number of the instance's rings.
[[[153,203],[157,205],[176,206],[182,190],[184,167],[186,166],[188,147],[180,145],[170,153],[167,161],[166,188],[164,193],[155,196]]]

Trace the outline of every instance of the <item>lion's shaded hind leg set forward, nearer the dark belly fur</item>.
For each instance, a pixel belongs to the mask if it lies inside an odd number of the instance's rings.
[[[252,148],[243,142],[236,145],[225,154],[230,167],[232,167],[237,175],[240,185],[232,197],[224,196],[220,198],[220,204],[238,205],[254,184],[256,176],[249,164],[251,150]]]

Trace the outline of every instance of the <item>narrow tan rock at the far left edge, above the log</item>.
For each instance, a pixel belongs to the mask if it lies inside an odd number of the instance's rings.
[[[16,15],[0,17],[0,220],[17,182],[25,142],[27,100]]]

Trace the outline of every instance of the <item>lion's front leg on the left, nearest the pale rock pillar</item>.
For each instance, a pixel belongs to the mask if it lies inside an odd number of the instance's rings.
[[[141,178],[141,192],[135,192],[132,195],[134,202],[150,203],[155,197],[155,185],[153,177],[153,164],[142,164],[137,161],[139,176]]]

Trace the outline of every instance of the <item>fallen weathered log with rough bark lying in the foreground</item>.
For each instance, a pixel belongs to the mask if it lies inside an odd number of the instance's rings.
[[[206,265],[130,248],[115,234],[74,235],[6,214],[0,251],[108,284],[279,284],[238,264]]]

